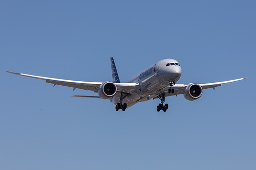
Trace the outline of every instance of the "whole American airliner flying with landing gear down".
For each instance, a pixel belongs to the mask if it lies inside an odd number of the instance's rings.
[[[91,90],[98,93],[98,96],[89,95],[73,95],[83,98],[107,99],[115,105],[116,111],[125,111],[139,102],[148,101],[151,99],[160,99],[161,103],[157,106],[157,111],[163,110],[166,112],[168,104],[164,104],[167,96],[183,94],[188,101],[194,101],[202,96],[203,89],[221,86],[221,84],[236,82],[246,78],[234,79],[229,81],[204,83],[204,84],[176,84],[181,77],[181,65],[174,59],[163,59],[150,67],[139,72],[131,79],[121,83],[117,74],[117,68],[113,57],[111,60],[113,82],[85,82],[73,81],[64,79],[55,79],[41,76],[27,75],[23,73],[7,71],[11,74],[25,76],[35,79],[45,80],[46,83],[68,86],[75,89]]]

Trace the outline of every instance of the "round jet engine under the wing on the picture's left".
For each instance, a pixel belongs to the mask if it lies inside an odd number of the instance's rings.
[[[112,82],[104,82],[99,86],[98,95],[101,99],[111,99],[116,94],[116,85]]]

